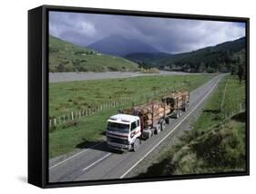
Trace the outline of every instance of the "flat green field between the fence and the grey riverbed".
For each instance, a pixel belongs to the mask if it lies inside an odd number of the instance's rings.
[[[49,84],[49,118],[96,107],[120,98],[173,87],[193,90],[213,75],[140,76],[134,78],[56,82]]]

